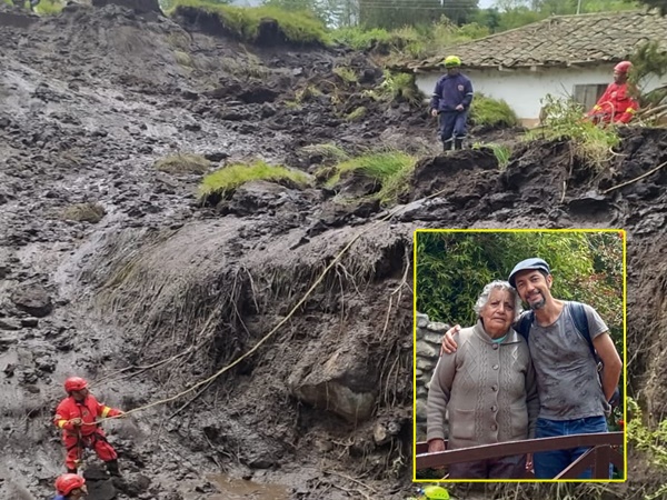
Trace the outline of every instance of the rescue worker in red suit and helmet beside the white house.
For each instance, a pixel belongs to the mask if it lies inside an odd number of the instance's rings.
[[[587,117],[595,123],[628,123],[639,109],[635,99],[636,90],[628,82],[630,61],[621,61],[614,67],[614,83],[609,83],[597,104],[588,111]]]

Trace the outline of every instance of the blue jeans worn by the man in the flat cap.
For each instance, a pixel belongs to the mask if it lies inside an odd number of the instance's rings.
[[[588,417],[575,420],[548,420],[537,419],[535,429],[536,438],[556,438],[570,434],[593,434],[607,432],[607,420],[605,417]],[[554,479],[566,467],[581,457],[590,447],[570,448],[569,450],[541,451],[535,453],[532,463],[536,479]],[[591,479],[593,469],[589,468],[577,479]]]

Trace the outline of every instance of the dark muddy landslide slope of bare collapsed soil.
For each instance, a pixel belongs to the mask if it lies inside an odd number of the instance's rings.
[[[71,6],[30,29],[11,19],[0,26],[0,497],[49,494],[63,470],[50,418],[78,373],[127,410],[187,391],[104,423],[125,479],[104,480],[89,457],[93,500],[405,498],[411,236],[425,227],[628,230],[630,391],[661,418],[667,170],[603,192],[666,161],[667,131],[627,129],[600,174],[555,142],[518,148],[501,172],[484,149],[434,156],[425,110],[361,97],[381,70],[358,54],[256,50],[117,6]],[[320,92],[288,102],[308,87]],[[364,119],[341,118],[359,106]],[[211,168],[260,157],[312,171],[322,159],[301,148],[330,141],[425,156],[406,204],[389,217],[256,182],[221,214],[196,203],[201,176],[152,167],[186,151]],[[78,203],[104,216],[63,217]],[[241,477],[270,488],[242,493],[230,482]],[[655,482],[615,490],[640,498]]]

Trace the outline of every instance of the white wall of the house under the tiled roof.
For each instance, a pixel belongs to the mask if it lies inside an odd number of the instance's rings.
[[[481,92],[494,99],[504,99],[514,109],[526,124],[539,120],[541,108],[540,99],[547,93],[557,97],[571,96],[575,86],[610,83],[613,80],[614,64],[604,64],[588,68],[537,68],[499,71],[498,69],[464,70],[476,92]],[[436,87],[436,81],[441,73],[417,73],[417,87],[430,97]],[[659,81],[644,82],[644,91],[653,90]]]

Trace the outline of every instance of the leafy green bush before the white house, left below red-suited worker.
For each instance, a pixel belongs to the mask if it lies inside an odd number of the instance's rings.
[[[614,157],[620,144],[616,127],[596,126],[584,118],[584,108],[574,99],[547,94],[542,100],[542,126],[528,131],[525,140],[569,139],[574,154],[591,169],[599,171]]]

